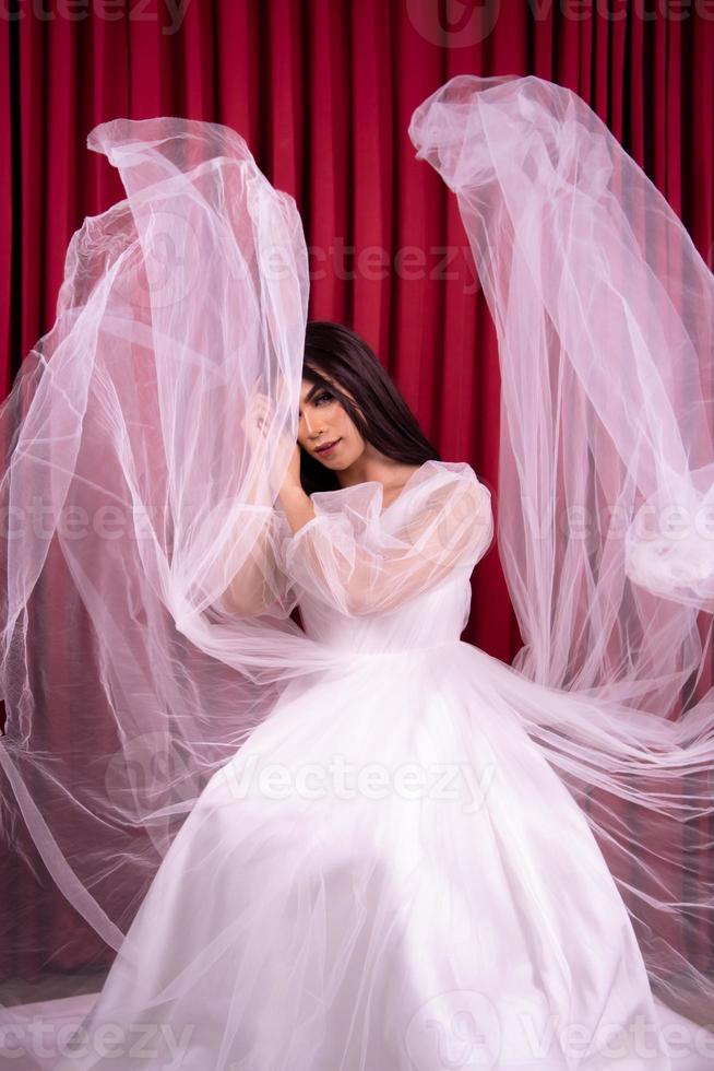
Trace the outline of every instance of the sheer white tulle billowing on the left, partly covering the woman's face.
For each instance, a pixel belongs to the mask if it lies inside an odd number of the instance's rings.
[[[222,608],[295,444],[295,205],[219,125],[118,119],[88,144],[127,199],[73,236],[56,323],[1,413],[0,762],[4,835],[116,949],[211,774],[286,680],[332,657],[279,590],[270,619]],[[246,431],[255,391],[273,402],[265,449]],[[3,905],[17,969],[102,955],[64,935],[51,888],[36,901]]]

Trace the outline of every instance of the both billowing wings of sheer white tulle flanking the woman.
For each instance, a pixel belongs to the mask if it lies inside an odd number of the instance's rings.
[[[459,197],[499,337],[498,545],[534,681],[519,716],[653,986],[711,1002],[712,274],[567,90],[457,78],[409,133]],[[16,975],[117,949],[210,776],[335,659],[267,568],[269,613],[221,598],[272,538],[296,437],[294,202],[217,123],[121,119],[88,144],[127,197],[73,236],[56,323],[0,412],[2,829],[33,882],[2,905]]]

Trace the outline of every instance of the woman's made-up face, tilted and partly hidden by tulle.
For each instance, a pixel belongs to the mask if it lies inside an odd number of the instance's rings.
[[[344,393],[352,399],[349,391],[344,390]],[[365,439],[338,399],[307,379],[300,387],[298,443],[328,469],[346,469],[365,449]],[[332,449],[321,451],[320,447],[331,443],[335,443]]]

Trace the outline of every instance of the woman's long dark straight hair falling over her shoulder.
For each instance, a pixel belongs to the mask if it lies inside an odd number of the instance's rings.
[[[324,378],[325,374],[334,384]],[[441,460],[374,351],[349,328],[330,320],[310,320],[305,336],[302,378],[330,390],[365,442],[386,457],[406,464]],[[341,387],[352,393],[354,402]],[[336,473],[302,448],[300,481],[308,494],[340,486]]]

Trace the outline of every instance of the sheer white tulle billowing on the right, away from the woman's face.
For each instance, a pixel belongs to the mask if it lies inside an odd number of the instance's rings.
[[[711,1005],[714,276],[561,86],[457,76],[409,133],[457,196],[498,332],[514,666],[594,704],[535,739],[587,811],[651,977]]]

